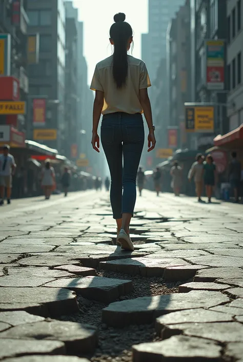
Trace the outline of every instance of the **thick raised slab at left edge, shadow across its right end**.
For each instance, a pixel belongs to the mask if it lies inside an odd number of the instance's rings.
[[[68,289],[0,288],[0,310],[25,310],[41,316],[78,311],[76,295]]]

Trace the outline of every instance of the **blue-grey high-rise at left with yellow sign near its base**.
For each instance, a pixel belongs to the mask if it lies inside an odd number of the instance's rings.
[[[64,153],[65,140],[65,6],[64,0],[28,0],[28,33],[39,33],[39,63],[30,65],[30,103],[46,98],[46,120],[30,127],[29,138]],[[31,107],[30,107],[31,108]],[[30,122],[33,119],[30,112]],[[39,131],[38,131],[39,129]]]

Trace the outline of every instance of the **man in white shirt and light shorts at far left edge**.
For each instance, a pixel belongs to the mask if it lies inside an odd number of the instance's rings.
[[[3,154],[0,155],[0,206],[4,204],[5,189],[7,190],[7,202],[11,203],[12,176],[15,172],[14,157],[9,153],[9,145],[3,147]]]

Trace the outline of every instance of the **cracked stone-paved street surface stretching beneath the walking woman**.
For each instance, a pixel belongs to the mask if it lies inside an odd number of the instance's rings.
[[[0,360],[243,361],[242,204],[144,190],[134,252],[108,193],[0,208]]]

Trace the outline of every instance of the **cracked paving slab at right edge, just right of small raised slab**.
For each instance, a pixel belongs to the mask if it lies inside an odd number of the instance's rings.
[[[243,270],[240,268],[209,268],[199,270],[194,281],[214,281],[216,279],[243,278]]]

